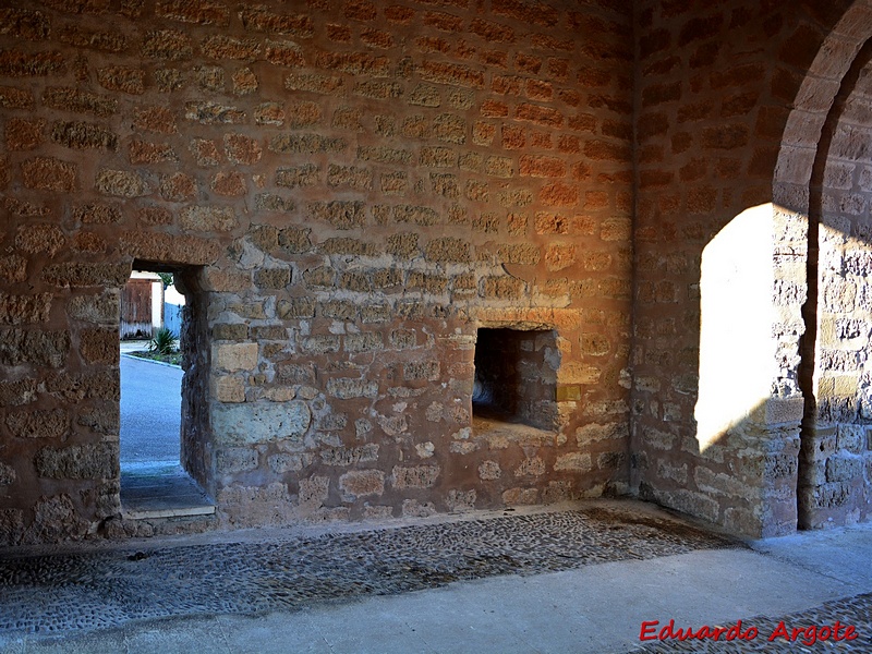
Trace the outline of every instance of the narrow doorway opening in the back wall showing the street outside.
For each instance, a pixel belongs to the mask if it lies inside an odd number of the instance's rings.
[[[208,516],[194,451],[205,403],[196,269],[134,262],[121,294],[121,506],[129,519]]]

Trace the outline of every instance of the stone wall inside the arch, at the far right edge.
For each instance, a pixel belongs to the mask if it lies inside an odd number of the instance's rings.
[[[811,197],[816,339],[807,353],[815,402],[807,409],[799,479],[800,524],[812,529],[868,520],[872,507],[871,53],[863,48],[845,76],[824,126],[824,165],[812,179],[821,189]]]

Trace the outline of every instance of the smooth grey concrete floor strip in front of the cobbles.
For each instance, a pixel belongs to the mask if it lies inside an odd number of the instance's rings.
[[[638,502],[623,506],[656,512]],[[476,517],[459,520],[472,518]],[[449,524],[448,529],[453,528]],[[402,530],[395,533],[401,535]],[[263,532],[237,532],[185,543],[220,547],[221,538],[255,543],[263,537]],[[171,543],[152,541],[148,546]],[[459,581],[388,596],[318,602],[293,611],[219,611],[57,635],[0,631],[0,652],[604,654],[650,646],[640,642],[642,622],[658,620],[659,627],[670,619],[677,626],[694,627],[729,626],[742,619],[746,627],[761,623],[761,635],[753,642],[726,643],[728,650],[710,650],[714,643],[707,642],[683,643],[683,647],[682,643],[655,642],[657,647],[650,651],[673,651],[674,646],[687,652],[872,652],[872,595],[863,596],[872,593],[871,561],[872,525],[861,525],[758,541],[750,547],[704,548],[558,572]],[[825,604],[846,597],[853,600]],[[0,615],[1,607],[2,602]],[[766,622],[765,631],[761,616],[788,616],[789,625],[802,627],[839,619],[853,625],[859,638],[835,649],[832,642],[813,646],[767,643],[773,622]]]

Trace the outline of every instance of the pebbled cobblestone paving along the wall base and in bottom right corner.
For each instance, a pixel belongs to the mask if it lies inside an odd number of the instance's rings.
[[[165,542],[140,549],[0,556],[0,635],[75,637],[170,616],[298,610],[453,581],[741,547],[740,542],[661,513],[594,505],[269,542],[183,546]],[[780,620],[791,629],[832,625],[834,619],[853,625],[865,638],[862,646],[767,641]],[[802,614],[751,617],[743,623],[754,626],[760,635],[727,643],[652,642],[640,644],[637,652],[872,652],[868,641],[872,594],[828,602]],[[680,627],[687,626],[676,625]]]

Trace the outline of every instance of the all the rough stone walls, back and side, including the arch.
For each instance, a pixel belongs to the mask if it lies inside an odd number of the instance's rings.
[[[3,7],[0,543],[119,514],[134,262],[187,294],[225,525],[868,519],[870,35],[864,0]],[[473,415],[482,328],[523,425]]]

